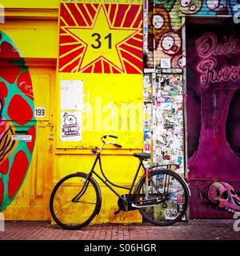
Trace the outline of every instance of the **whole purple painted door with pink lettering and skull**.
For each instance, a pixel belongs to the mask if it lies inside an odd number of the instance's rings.
[[[232,218],[240,211],[239,26],[186,32],[190,216]]]

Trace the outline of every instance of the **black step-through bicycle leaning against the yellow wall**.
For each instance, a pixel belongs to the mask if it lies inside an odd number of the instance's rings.
[[[99,178],[114,194],[118,196],[119,210],[139,210],[142,217],[157,226],[170,226],[182,219],[188,207],[190,190],[186,181],[172,170],[163,169],[164,166],[146,168],[143,161],[150,158],[148,153],[134,153],[139,159],[138,169],[131,186],[119,186],[110,182],[102,170],[101,152],[105,145],[122,147],[114,142],[106,142],[106,138],[118,138],[114,135],[102,136],[102,146],[91,150],[96,154],[94,164],[88,174],[77,172],[62,178],[50,195],[50,213],[54,221],[64,229],[78,230],[88,225],[99,214],[102,206],[102,194],[98,182]],[[94,171],[99,163],[102,173],[100,176]],[[174,166],[166,165],[165,167]],[[134,188],[141,167],[144,170],[142,178]],[[129,190],[128,194],[118,194],[114,187]],[[79,218],[76,220],[76,214]]]

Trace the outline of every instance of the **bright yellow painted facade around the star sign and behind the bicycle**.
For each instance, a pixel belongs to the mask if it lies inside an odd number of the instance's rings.
[[[58,0],[24,0],[21,2],[6,0],[2,1],[2,5],[6,8],[56,9],[58,8]],[[86,172],[90,170],[94,159],[93,155],[90,154],[90,147],[100,146],[100,136],[102,134],[117,134],[119,136],[118,142],[123,146],[121,150],[114,148],[106,150],[105,154],[103,154],[102,162],[110,180],[118,182],[119,185],[130,185],[138,166],[138,159],[133,158],[131,155],[136,151],[142,151],[142,75],[58,75],[55,72],[56,66],[53,66],[56,65],[58,58],[58,22],[54,18],[51,20],[36,19],[36,17],[42,16],[42,10],[38,11],[39,14],[35,12],[33,19],[28,16],[29,13],[26,11],[27,19],[24,18],[24,15],[23,18],[17,20],[7,18],[6,23],[0,25],[0,30],[10,36],[22,56],[26,58],[30,66],[30,74],[39,74],[39,72],[42,72],[41,74],[43,75],[51,76],[49,89],[50,102],[46,104],[46,108],[49,108],[49,119],[46,121],[38,120],[38,137],[37,146],[34,149],[34,160],[26,182],[19,191],[19,196],[12,203],[14,207],[9,206],[9,209],[6,210],[7,219],[50,219],[48,209],[50,190],[58,182],[59,178],[62,178],[64,175],[79,170]],[[14,13],[11,15],[14,15]],[[55,76],[56,78],[54,78]],[[121,111],[126,111],[126,109],[124,110],[126,107],[134,106],[134,108],[137,108],[138,117],[135,123],[135,130],[130,130],[129,128],[130,114],[128,114],[126,125],[123,125],[125,128],[122,130],[116,129],[113,126],[110,130],[102,128],[102,130],[97,129],[98,131],[94,132],[93,130],[88,130],[88,127],[83,127],[82,142],[61,142],[59,138],[59,104],[60,81],[62,78],[81,79],[83,81],[83,99],[85,105],[90,103],[88,106],[90,106],[92,111],[92,113],[86,112],[83,114],[83,122],[91,115],[94,129],[99,125],[99,113],[101,111],[96,108],[96,104],[99,104],[98,98],[101,97],[103,107],[112,104],[112,106],[116,107],[119,114],[121,114]],[[34,95],[36,100],[38,99],[37,102],[42,102],[42,96],[45,97],[46,92],[42,91],[39,79],[41,78],[33,79]],[[121,109],[122,103],[123,109]],[[102,127],[107,116],[110,115],[109,111],[109,106],[108,109],[102,109]],[[121,120],[118,121],[121,123]],[[43,168],[43,166],[47,167]],[[142,217],[138,214],[138,211],[114,215],[114,211],[118,210],[118,198],[110,190],[106,190],[101,183],[100,186],[103,200],[102,209],[98,217],[94,219],[94,222],[142,222]],[[126,193],[125,191],[121,191],[118,190],[119,193]],[[45,193],[45,196],[42,193]],[[40,201],[39,197],[42,198]]]

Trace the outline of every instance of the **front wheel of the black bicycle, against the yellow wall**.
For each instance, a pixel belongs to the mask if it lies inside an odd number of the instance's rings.
[[[62,178],[50,196],[50,213],[58,226],[78,230],[98,214],[102,196],[98,183],[85,173]]]

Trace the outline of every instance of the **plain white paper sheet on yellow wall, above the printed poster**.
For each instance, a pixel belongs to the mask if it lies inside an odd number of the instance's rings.
[[[83,82],[82,80],[61,81],[61,110],[82,110]]]

